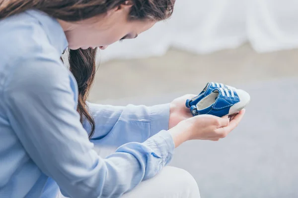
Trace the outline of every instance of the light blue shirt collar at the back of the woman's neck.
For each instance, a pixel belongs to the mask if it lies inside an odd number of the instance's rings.
[[[64,30],[57,19],[39,10],[27,10],[28,14],[36,18],[45,30],[51,45],[61,54],[68,48],[68,41]]]

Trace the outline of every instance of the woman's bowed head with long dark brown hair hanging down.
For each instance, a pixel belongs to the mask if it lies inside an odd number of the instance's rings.
[[[169,18],[175,0],[0,0],[0,19],[28,9],[56,18],[69,42],[70,70],[78,85],[77,111],[94,133],[94,120],[86,99],[94,81],[96,50],[133,39],[157,21]]]

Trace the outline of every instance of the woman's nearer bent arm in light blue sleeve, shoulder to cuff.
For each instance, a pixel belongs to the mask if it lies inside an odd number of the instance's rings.
[[[43,56],[20,62],[2,95],[26,153],[66,197],[117,197],[169,163],[174,142],[168,131],[99,157],[79,122],[74,82],[62,63]]]

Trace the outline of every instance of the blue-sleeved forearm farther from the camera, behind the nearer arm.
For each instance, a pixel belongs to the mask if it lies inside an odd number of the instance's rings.
[[[87,103],[95,121],[94,144],[121,146],[128,142],[144,142],[161,130],[168,130],[169,104],[154,106],[112,106]],[[90,124],[83,127],[90,133]]]

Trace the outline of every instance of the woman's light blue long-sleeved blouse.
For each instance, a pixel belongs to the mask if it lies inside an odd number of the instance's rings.
[[[1,198],[54,198],[59,188],[71,198],[117,198],[170,162],[168,104],[88,103],[96,123],[88,139],[56,19],[36,10],[2,19],[0,47]],[[101,158],[94,144],[119,148]]]

